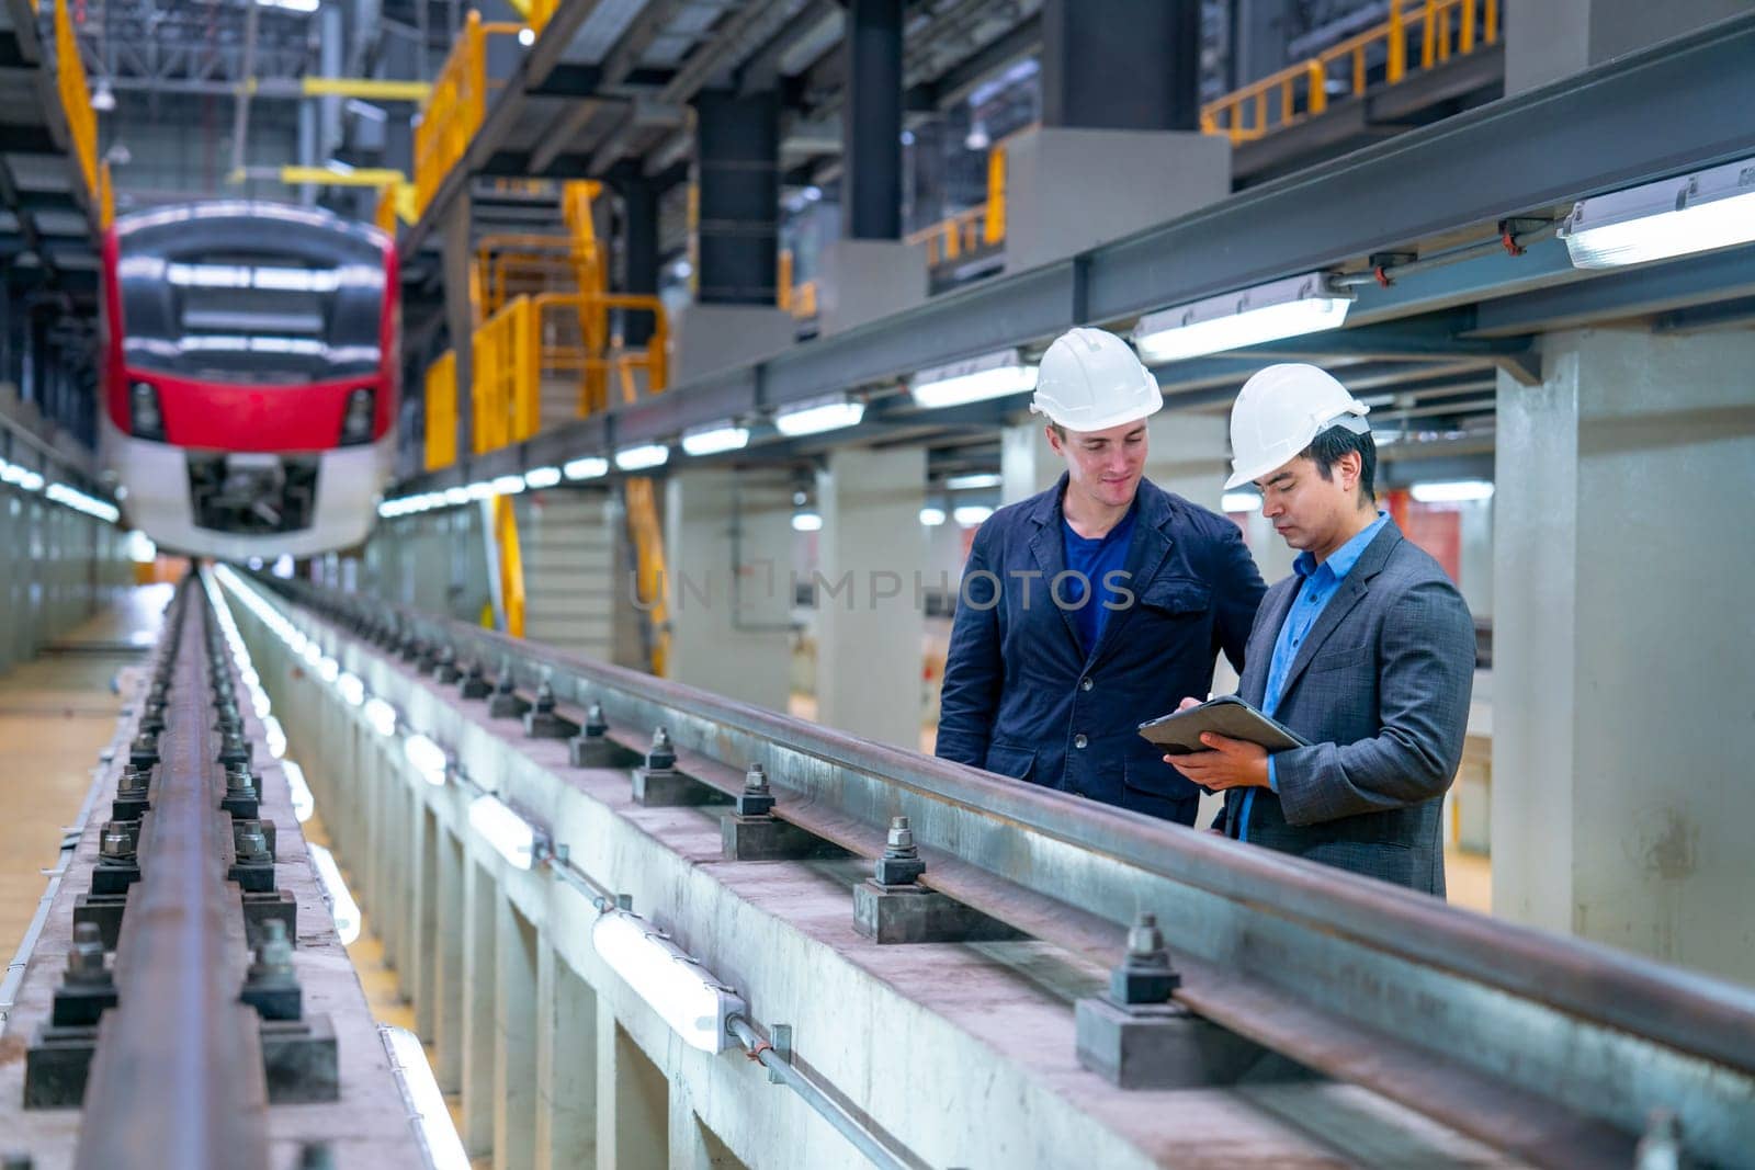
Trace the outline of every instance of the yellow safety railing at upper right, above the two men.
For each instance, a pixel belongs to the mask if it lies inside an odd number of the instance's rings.
[[[1409,44],[1416,35],[1420,68],[1495,44],[1499,0],[1390,0],[1381,25],[1204,105],[1200,130],[1227,135],[1232,144],[1255,142],[1325,112],[1332,81],[1341,81],[1351,96],[1364,96],[1367,58],[1379,46],[1383,84],[1393,86],[1409,74]]]

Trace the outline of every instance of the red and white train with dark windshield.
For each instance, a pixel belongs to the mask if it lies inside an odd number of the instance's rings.
[[[395,458],[397,251],[265,202],[154,207],[104,239],[102,447],[128,523],[221,560],[358,544]]]

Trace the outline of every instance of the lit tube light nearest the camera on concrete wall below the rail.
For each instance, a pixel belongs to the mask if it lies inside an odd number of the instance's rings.
[[[609,910],[591,924],[598,958],[693,1049],[723,1052],[725,1021],[742,1014],[742,998],[670,938],[628,910]]]

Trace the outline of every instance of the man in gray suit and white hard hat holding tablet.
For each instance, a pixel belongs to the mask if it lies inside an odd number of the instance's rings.
[[[1255,616],[1239,696],[1309,747],[1269,756],[1209,733],[1211,751],[1165,761],[1225,793],[1214,828],[1228,837],[1443,896],[1439,814],[1462,761],[1474,621],[1376,509],[1367,410],[1311,365],[1267,367],[1237,395],[1225,486],[1253,481],[1299,549]]]

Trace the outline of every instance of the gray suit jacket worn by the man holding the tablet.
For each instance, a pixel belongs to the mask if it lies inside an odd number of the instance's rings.
[[[1297,598],[1262,600],[1239,695],[1262,705],[1274,640]],[[1274,719],[1311,746],[1274,754],[1279,795],[1230,789],[1221,826],[1343,870],[1444,895],[1439,812],[1462,761],[1474,688],[1474,621],[1462,595],[1395,523],[1365,546],[1311,628]]]

